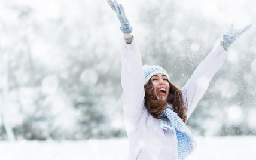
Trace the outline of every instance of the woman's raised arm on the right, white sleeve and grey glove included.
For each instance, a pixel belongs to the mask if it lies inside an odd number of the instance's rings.
[[[229,44],[252,27],[252,24],[243,29],[233,29],[233,25],[224,33],[223,41],[218,42],[214,49],[206,56],[194,71],[187,84],[182,87],[184,102],[187,104],[187,119],[190,117],[197,103],[208,89],[209,82],[214,74],[223,65]]]

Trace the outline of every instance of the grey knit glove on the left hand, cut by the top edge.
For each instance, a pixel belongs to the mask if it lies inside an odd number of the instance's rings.
[[[117,17],[121,23],[121,31],[124,34],[132,33],[132,26],[130,26],[129,20],[126,17],[126,14],[124,13],[124,7],[121,4],[118,4],[116,0],[114,2],[112,0],[108,0],[108,4],[114,10],[114,12],[117,14]]]

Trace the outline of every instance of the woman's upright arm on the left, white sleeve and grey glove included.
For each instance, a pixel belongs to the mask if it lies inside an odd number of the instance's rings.
[[[144,109],[144,73],[142,70],[141,53],[136,41],[133,39],[132,26],[124,13],[123,5],[116,0],[108,0],[108,4],[117,14],[124,33],[122,47],[121,84],[123,88],[122,102],[124,110],[124,123],[129,134],[139,121],[139,116]]]

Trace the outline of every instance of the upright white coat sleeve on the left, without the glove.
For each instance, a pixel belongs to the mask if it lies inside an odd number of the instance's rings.
[[[121,84],[123,88],[122,103],[124,123],[129,134],[138,124],[144,108],[144,73],[142,70],[141,53],[133,39],[131,44],[124,41],[122,47]]]

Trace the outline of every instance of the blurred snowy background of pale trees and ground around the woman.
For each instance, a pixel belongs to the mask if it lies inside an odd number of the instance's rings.
[[[119,0],[143,64],[173,84],[235,28],[256,21],[256,1]],[[105,0],[0,3],[0,159],[126,159],[120,23]],[[190,159],[256,158],[256,27],[229,48],[188,119]]]

